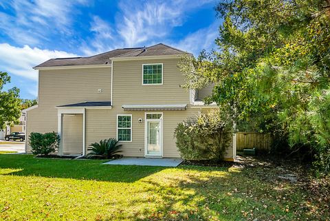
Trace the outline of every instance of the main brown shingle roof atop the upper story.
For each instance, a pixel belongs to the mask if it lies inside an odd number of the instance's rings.
[[[37,65],[38,67],[56,67],[56,66],[72,66],[72,65],[105,65],[110,62],[111,58],[118,57],[136,57],[136,56],[159,56],[159,55],[174,55],[185,54],[186,52],[176,48],[172,48],[168,45],[159,43],[147,48],[122,48],[97,54],[88,57],[76,57],[76,58],[63,58],[63,59],[50,59]]]

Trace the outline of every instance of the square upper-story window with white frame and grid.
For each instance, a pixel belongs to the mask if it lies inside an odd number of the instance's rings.
[[[163,64],[142,65],[142,85],[162,85]]]

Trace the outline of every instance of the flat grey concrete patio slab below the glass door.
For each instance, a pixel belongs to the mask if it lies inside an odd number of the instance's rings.
[[[104,162],[106,165],[139,165],[158,167],[177,167],[182,162],[179,158],[120,158]]]

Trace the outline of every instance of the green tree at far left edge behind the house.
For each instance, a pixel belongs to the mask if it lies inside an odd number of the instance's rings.
[[[6,124],[18,123],[21,116],[21,99],[19,89],[13,87],[3,91],[3,85],[10,82],[10,76],[6,72],[0,72],[0,128]]]

